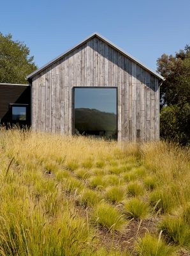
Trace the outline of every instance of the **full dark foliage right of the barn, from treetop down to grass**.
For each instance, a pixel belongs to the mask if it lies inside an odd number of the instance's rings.
[[[160,88],[160,135],[182,145],[190,144],[190,47],[163,54],[157,71],[165,81]]]

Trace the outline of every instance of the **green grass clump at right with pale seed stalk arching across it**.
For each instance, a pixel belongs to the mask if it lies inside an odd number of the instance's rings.
[[[169,213],[173,208],[173,196],[168,189],[157,189],[150,194],[150,205],[154,211]]]

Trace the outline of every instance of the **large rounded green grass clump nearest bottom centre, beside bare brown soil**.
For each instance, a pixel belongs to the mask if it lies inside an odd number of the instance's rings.
[[[112,205],[101,203],[94,209],[93,219],[109,230],[121,230],[125,221]]]

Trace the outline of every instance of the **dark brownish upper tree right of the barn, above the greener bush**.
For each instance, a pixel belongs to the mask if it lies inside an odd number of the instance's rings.
[[[175,53],[175,56],[163,54],[157,59],[157,72],[164,78],[160,87],[160,105],[170,106],[189,101],[190,46]]]

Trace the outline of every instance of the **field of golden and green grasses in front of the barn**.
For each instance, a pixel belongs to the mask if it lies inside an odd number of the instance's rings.
[[[0,255],[190,255],[190,150],[0,130]]]

